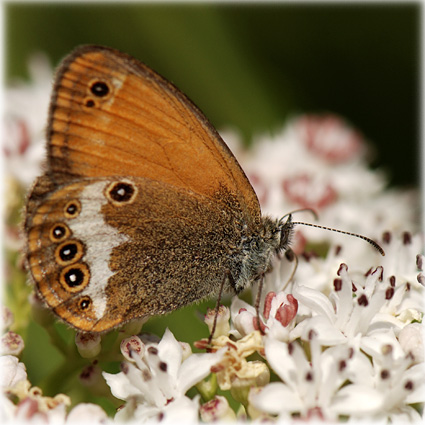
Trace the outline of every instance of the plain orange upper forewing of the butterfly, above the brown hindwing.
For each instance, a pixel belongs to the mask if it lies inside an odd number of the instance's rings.
[[[94,82],[109,93],[95,96]],[[99,46],[74,51],[58,71],[49,119],[49,171],[69,177],[133,175],[219,198],[248,219],[260,206],[244,172],[199,109],[134,58]],[[218,199],[220,202],[220,199]]]

